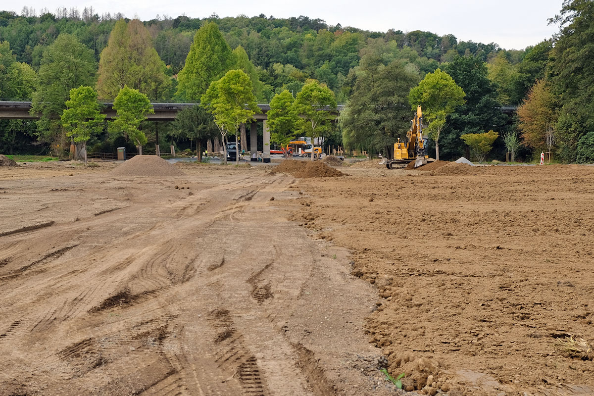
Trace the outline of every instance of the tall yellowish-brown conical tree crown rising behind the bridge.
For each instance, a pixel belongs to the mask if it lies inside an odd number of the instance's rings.
[[[165,99],[171,85],[165,74],[165,62],[154,49],[149,30],[137,19],[116,22],[99,61],[100,97],[113,99],[124,85],[151,100]]]

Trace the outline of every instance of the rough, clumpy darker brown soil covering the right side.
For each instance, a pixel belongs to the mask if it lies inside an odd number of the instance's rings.
[[[437,168],[437,167],[436,167]],[[594,168],[341,169],[300,179],[293,220],[377,287],[369,341],[408,389],[593,395]]]

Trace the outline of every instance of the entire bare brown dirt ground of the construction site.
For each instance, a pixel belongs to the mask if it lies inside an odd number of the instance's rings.
[[[0,395],[594,394],[594,167],[113,167],[0,168]]]

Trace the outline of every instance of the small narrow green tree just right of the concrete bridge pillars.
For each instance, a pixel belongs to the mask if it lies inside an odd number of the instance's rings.
[[[268,128],[270,128],[270,141],[280,144],[283,150],[287,144],[295,137],[296,125],[299,122],[299,116],[295,112],[293,95],[284,90],[274,95],[270,101],[270,110],[268,110]],[[285,152],[285,156],[287,156]]]

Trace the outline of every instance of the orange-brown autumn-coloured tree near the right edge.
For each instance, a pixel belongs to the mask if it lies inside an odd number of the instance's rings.
[[[541,80],[536,83],[527,99],[518,107],[519,128],[523,143],[536,151],[545,149],[546,134],[557,122],[555,97],[548,84]]]

